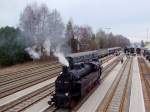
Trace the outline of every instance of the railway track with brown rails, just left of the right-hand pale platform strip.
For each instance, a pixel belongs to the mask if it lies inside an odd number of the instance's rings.
[[[114,83],[101,102],[98,112],[123,112],[127,110],[127,94],[131,84],[132,58],[127,59]],[[127,108],[126,108],[127,107]]]

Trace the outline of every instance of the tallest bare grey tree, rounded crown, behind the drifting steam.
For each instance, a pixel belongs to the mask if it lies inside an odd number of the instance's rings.
[[[28,5],[20,16],[20,29],[27,46],[38,46],[41,51],[50,53],[63,37],[64,24],[59,12],[49,11],[45,4]]]

